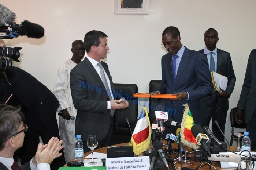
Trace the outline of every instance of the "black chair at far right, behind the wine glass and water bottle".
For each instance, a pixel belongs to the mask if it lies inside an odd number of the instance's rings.
[[[231,109],[230,111],[230,123],[231,123],[231,139],[230,139],[230,146],[232,146],[233,144],[233,140],[234,138],[237,138],[237,136],[235,136],[235,133],[234,133],[234,128],[239,128],[239,129],[245,129],[246,128],[246,123],[245,123],[245,111],[242,110],[242,113],[241,113],[241,120],[242,120],[242,124],[238,124],[236,121],[235,121],[235,112],[237,111],[237,107]],[[244,134],[244,132],[239,132],[241,134]],[[240,139],[240,141],[238,142],[241,142],[242,141],[242,137]],[[241,144],[241,143],[240,143]],[[241,145],[240,145],[241,146]]]

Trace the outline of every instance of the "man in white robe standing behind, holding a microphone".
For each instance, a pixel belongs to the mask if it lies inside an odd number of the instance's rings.
[[[53,88],[53,94],[59,101],[59,108],[57,109],[59,116],[59,131],[60,139],[63,140],[64,155],[66,162],[75,157],[75,120],[71,120],[77,115],[77,110],[74,107],[71,91],[70,91],[70,71],[81,62],[85,55],[84,42],[75,40],[72,43],[71,51],[72,58],[64,62],[58,70],[58,77]]]

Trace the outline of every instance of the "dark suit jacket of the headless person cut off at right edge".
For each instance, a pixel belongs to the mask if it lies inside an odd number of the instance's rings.
[[[249,55],[244,84],[237,107],[245,109],[245,123],[248,123],[256,107],[256,49]]]

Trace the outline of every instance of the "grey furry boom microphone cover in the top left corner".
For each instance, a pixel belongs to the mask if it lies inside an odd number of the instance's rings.
[[[0,24],[11,24],[15,20],[15,13],[0,4]]]

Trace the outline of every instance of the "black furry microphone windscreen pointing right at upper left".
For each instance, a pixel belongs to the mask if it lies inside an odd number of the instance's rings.
[[[31,23],[28,20],[21,22],[19,35],[26,35],[29,38],[41,38],[44,36],[44,28],[38,24]]]

